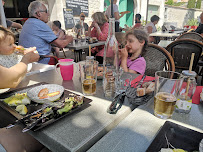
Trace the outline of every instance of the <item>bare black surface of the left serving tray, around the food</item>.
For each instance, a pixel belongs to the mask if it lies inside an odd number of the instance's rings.
[[[1,94],[1,98],[4,99],[4,98],[7,98],[7,97],[10,97],[10,96],[14,95],[15,93],[25,93],[25,92],[28,92],[30,89],[32,89],[32,88],[34,88],[34,87],[38,87],[38,86],[46,85],[46,84],[47,84],[47,83],[42,82],[42,83],[38,83],[38,84],[31,85],[31,86],[28,86],[28,87],[24,87],[24,88],[16,89],[16,90],[13,90],[13,91],[5,92],[5,93]],[[65,98],[71,96],[70,94],[75,94],[75,93],[72,93],[72,92],[70,92],[70,91],[64,90],[64,93],[61,95],[61,97],[60,97],[60,99],[59,99],[58,101],[64,101]],[[75,94],[75,95],[77,95],[77,94]],[[91,101],[92,101],[91,99],[84,97],[84,98],[83,98],[83,104],[82,104],[82,105],[73,108],[72,110],[70,110],[70,111],[67,112],[67,113],[63,113],[62,115],[59,115],[59,116],[57,116],[57,117],[53,117],[53,118],[51,118],[51,119],[45,121],[44,123],[39,123],[38,125],[36,125],[36,126],[35,126],[34,128],[32,128],[31,130],[32,130],[32,131],[37,131],[37,130],[39,130],[39,129],[41,129],[41,128],[44,128],[45,126],[48,126],[48,125],[54,123],[55,121],[57,121],[57,120],[59,120],[59,119],[65,117],[65,116],[71,115],[72,113],[75,113],[75,112],[80,112],[80,111],[86,109],[87,107],[89,107],[89,106],[90,106],[89,103],[90,103]],[[41,104],[41,103],[36,103],[36,102],[34,102],[34,101],[31,101],[31,104],[26,105],[26,107],[27,107],[27,109],[28,109],[28,113],[27,113],[27,114],[30,114],[30,113],[32,113],[32,112],[34,112],[34,111],[36,111],[36,110],[42,108],[42,105],[43,105],[43,104]],[[20,114],[15,110],[16,107],[11,107],[11,106],[7,105],[7,104],[4,103],[4,102],[0,102],[0,106],[1,106],[4,110],[6,110],[6,111],[8,111],[10,114],[12,114],[14,117],[16,117],[17,119],[21,119],[21,118],[24,117],[23,115],[20,115]],[[13,123],[14,123],[14,122],[13,122]],[[21,123],[23,124],[23,126],[26,126],[26,123],[24,123],[24,122],[21,122]]]

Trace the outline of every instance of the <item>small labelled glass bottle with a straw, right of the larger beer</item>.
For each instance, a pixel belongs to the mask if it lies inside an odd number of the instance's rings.
[[[192,108],[192,96],[196,89],[196,72],[182,71],[183,79],[179,86],[179,93],[176,101],[175,111],[189,113]]]

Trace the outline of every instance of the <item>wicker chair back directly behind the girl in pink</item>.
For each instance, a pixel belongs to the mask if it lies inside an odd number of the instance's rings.
[[[175,64],[170,53],[156,44],[149,43],[143,57],[146,60],[146,75],[155,76],[156,71],[162,70],[175,71]]]

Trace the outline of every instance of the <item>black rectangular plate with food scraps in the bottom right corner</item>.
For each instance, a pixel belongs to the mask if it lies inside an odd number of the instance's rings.
[[[203,133],[166,121],[146,152],[196,152]]]

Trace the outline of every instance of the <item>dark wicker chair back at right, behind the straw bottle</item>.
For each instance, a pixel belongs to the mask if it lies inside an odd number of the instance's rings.
[[[195,53],[192,70],[198,72],[197,64],[202,54],[203,43],[191,39],[179,39],[166,47],[175,62],[176,72],[188,70],[191,54]]]

